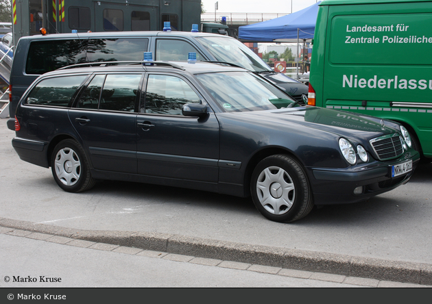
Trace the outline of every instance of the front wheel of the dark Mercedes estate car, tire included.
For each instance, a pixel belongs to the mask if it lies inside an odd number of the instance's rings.
[[[250,190],[256,209],[275,222],[299,220],[313,208],[307,175],[288,155],[271,155],[261,160],[252,173]]]

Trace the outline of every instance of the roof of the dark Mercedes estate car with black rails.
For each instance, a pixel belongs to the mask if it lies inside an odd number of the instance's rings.
[[[229,66],[227,64],[217,64],[213,62],[201,62],[197,61],[195,63],[188,62],[93,62],[89,64],[75,64],[73,66],[65,66],[64,68],[59,68],[56,71],[51,71],[43,74],[41,77],[51,77],[59,75],[67,75],[73,73],[110,73],[110,72],[128,72],[128,73],[143,73],[144,71],[184,71],[193,75],[202,73],[218,73],[218,72],[232,72],[232,71],[242,71],[248,72],[244,68],[237,66]],[[108,64],[108,66],[106,65]],[[117,65],[109,65],[117,64]]]

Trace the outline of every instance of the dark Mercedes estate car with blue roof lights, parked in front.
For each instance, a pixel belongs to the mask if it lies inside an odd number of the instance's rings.
[[[299,105],[243,68],[102,65],[41,75],[16,110],[16,153],[69,192],[156,183],[252,197],[266,218],[290,222],[392,190],[419,161],[398,123]]]

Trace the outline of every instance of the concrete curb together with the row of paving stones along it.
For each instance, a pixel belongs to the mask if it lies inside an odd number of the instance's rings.
[[[206,266],[378,288],[432,287],[429,264],[283,250],[163,233],[86,231],[0,218],[0,233]]]

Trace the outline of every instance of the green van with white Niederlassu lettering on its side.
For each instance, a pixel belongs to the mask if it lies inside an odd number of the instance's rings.
[[[308,103],[398,121],[430,162],[431,53],[432,1],[324,0]]]

